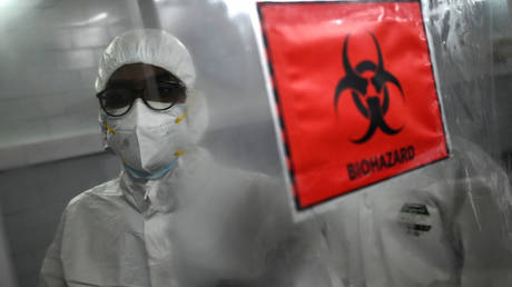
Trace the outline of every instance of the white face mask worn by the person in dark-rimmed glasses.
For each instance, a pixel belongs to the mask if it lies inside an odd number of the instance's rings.
[[[157,111],[136,99],[125,116],[101,115],[107,144],[132,176],[158,178],[176,164],[177,157],[190,144],[185,111],[185,103]]]

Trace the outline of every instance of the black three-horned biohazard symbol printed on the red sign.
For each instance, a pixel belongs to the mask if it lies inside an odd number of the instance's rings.
[[[345,42],[343,44],[343,67],[345,69],[345,77],[343,77],[339,80],[339,82],[336,86],[336,91],[334,92],[334,108],[336,111],[339,96],[344,90],[349,89],[352,91],[352,99],[354,100],[357,110],[370,120],[370,126],[366,130],[366,133],[360,139],[351,140],[354,144],[363,144],[367,141],[372,138],[377,128],[380,128],[383,132],[387,135],[396,135],[403,128],[401,127],[397,129],[393,129],[384,120],[384,116],[386,115],[387,109],[390,108],[390,95],[386,83],[391,82],[395,85],[398,88],[403,98],[404,93],[402,91],[402,86],[400,85],[398,80],[384,69],[384,60],[382,58],[381,47],[378,47],[377,39],[371,32],[368,33],[370,36],[372,36],[373,41],[375,42],[378,56],[378,63],[375,65],[373,61],[363,60],[355,67],[354,70],[348,61],[348,34],[345,38]],[[367,71],[372,71],[372,76],[363,77],[363,73]],[[368,95],[368,85],[372,85],[372,87],[374,88],[372,89],[372,91],[376,91],[376,95]],[[378,95],[383,96],[381,97],[383,99],[382,103]],[[366,100],[366,105],[363,103],[363,99]]]

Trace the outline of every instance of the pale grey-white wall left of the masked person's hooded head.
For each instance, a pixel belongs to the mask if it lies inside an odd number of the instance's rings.
[[[3,0],[0,19],[0,170],[101,151],[97,65],[137,1]]]

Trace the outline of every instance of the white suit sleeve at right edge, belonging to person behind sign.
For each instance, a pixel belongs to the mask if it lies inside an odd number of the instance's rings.
[[[461,286],[512,283],[512,200],[506,174],[475,147],[459,167],[454,245],[461,255]]]

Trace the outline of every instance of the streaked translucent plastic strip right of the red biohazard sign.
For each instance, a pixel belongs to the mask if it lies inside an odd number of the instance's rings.
[[[491,1],[429,1],[424,10],[450,132],[491,154],[500,149],[492,47],[492,10],[498,7]]]

